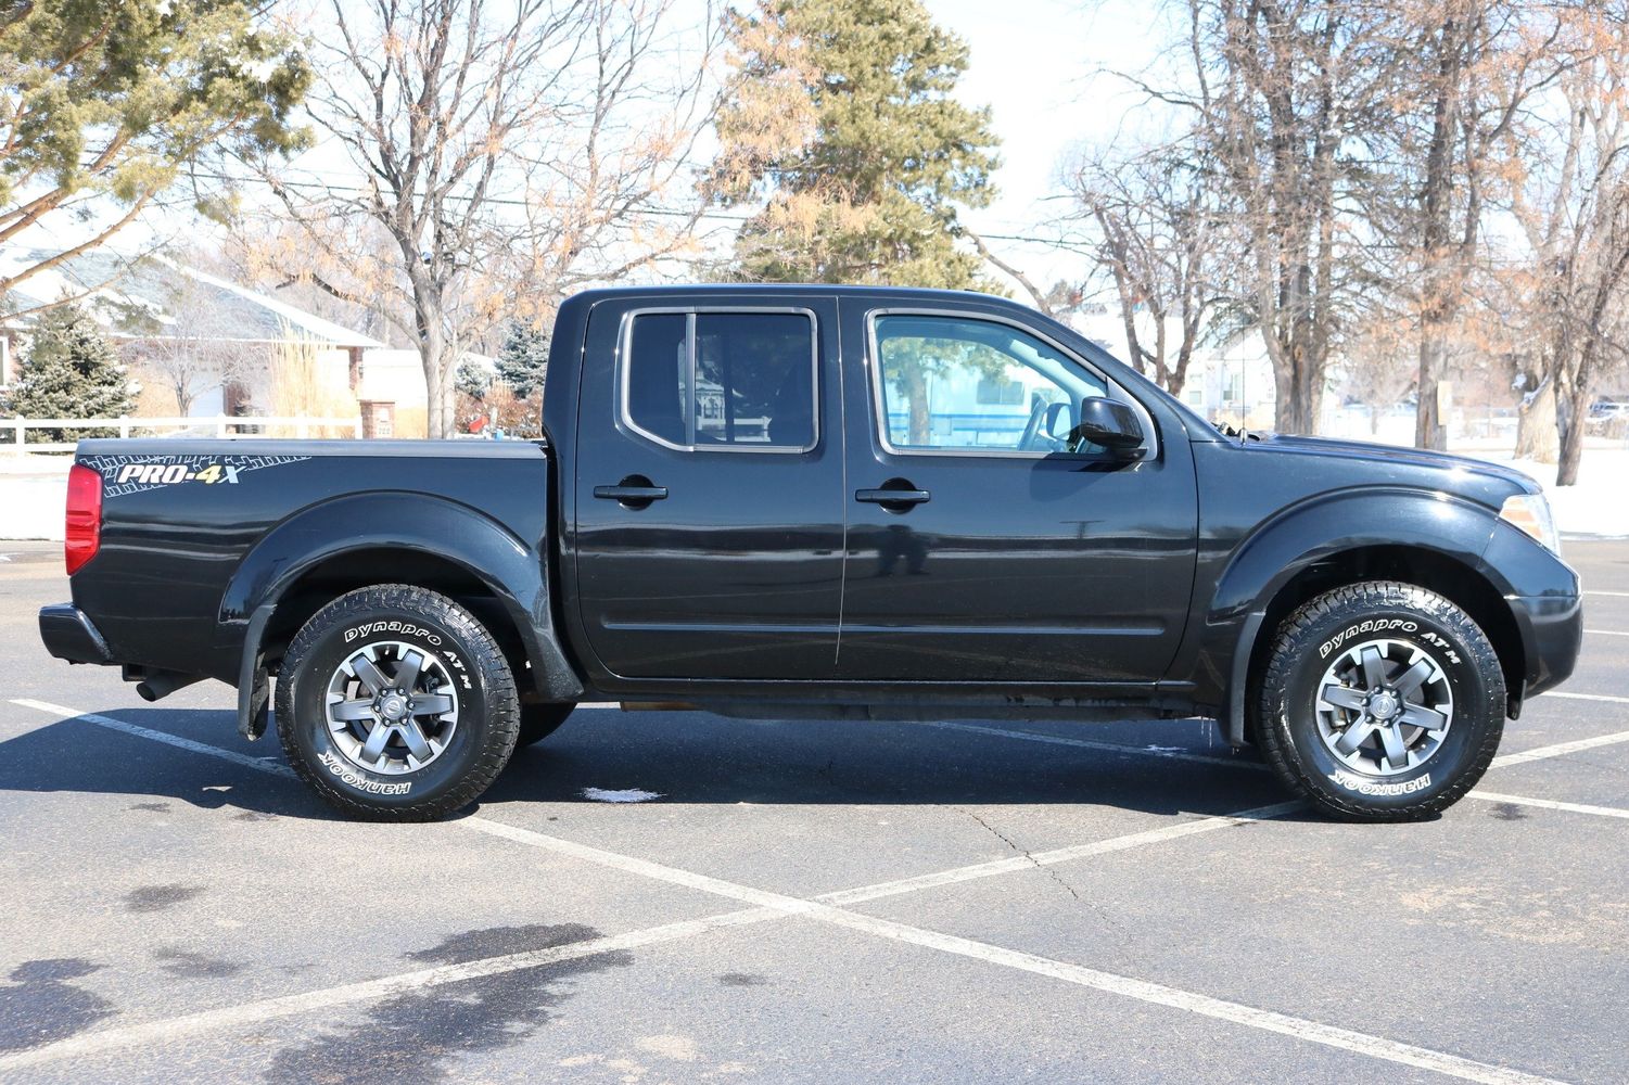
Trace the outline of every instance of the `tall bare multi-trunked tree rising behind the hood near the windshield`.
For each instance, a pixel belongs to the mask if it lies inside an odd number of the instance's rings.
[[[1396,57],[1377,47],[1381,0],[1183,0],[1191,70],[1127,77],[1191,111],[1191,150],[1214,163],[1240,244],[1230,321],[1259,327],[1274,424],[1316,427],[1331,344],[1363,305],[1365,145],[1383,124]]]

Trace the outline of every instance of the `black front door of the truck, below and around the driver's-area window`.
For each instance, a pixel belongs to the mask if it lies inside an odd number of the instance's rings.
[[[1137,402],[1010,306],[841,305],[839,676],[1158,681],[1183,635],[1197,534],[1192,453],[1170,409]],[[1134,406],[1142,459],[1064,451],[1083,396]]]

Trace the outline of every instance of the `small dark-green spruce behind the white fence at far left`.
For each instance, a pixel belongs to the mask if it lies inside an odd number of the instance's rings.
[[[24,419],[117,419],[135,409],[134,388],[96,321],[78,305],[46,310],[11,389],[10,411]],[[29,430],[31,440],[114,437],[114,430]]]

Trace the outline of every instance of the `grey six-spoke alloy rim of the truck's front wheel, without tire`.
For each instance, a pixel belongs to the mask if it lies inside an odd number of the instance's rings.
[[[1318,683],[1318,733],[1342,764],[1398,775],[1430,761],[1453,725],[1453,689],[1430,652],[1377,639],[1334,658]]]

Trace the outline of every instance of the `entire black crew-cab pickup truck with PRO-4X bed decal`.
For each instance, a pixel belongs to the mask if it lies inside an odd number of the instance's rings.
[[[479,797],[580,701],[775,718],[1214,715],[1352,819],[1443,810],[1572,673],[1541,490],[1222,433],[973,293],[562,305],[541,441],[88,440],[52,655],[238,687],[339,810]]]

